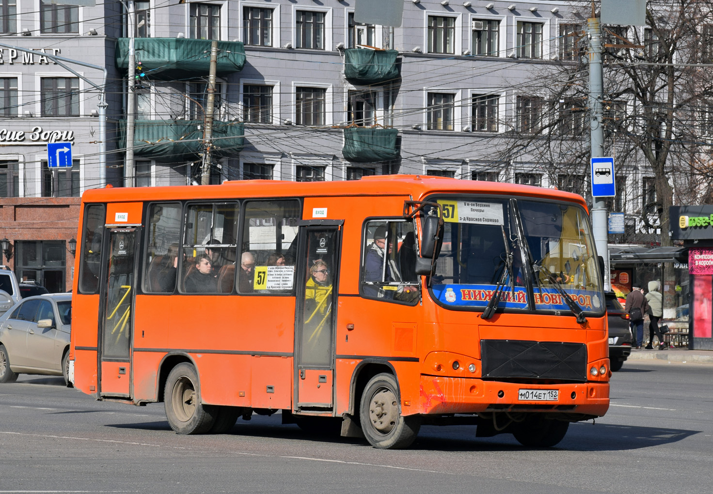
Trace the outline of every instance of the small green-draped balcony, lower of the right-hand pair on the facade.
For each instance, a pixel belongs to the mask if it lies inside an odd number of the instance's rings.
[[[344,129],[342,155],[349,161],[379,163],[399,158],[399,129],[350,127]]]

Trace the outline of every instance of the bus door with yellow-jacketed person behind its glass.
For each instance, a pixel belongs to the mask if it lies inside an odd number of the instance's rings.
[[[297,411],[334,406],[334,324],[339,282],[339,224],[302,222],[297,254],[294,379]]]

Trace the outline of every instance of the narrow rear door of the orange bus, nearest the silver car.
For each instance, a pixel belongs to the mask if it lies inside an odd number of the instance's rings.
[[[109,230],[109,256],[100,317],[101,396],[130,398],[135,263],[139,229]]]

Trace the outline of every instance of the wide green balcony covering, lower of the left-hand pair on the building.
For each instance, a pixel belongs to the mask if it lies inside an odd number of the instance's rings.
[[[199,128],[200,127],[200,128]],[[235,156],[244,143],[242,123],[213,123],[213,156]],[[202,120],[136,120],[134,155],[164,162],[195,161],[203,152]],[[119,124],[119,146],[126,147],[126,122]]]

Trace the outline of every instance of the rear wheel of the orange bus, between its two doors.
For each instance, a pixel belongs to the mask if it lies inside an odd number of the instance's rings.
[[[179,434],[203,434],[215,423],[217,407],[203,406],[198,373],[182,362],[168,374],[163,405],[171,428]]]

